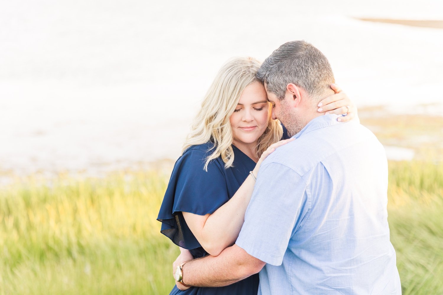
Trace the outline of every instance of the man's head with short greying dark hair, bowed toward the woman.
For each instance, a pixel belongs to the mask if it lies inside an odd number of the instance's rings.
[[[290,135],[321,115],[316,111],[317,104],[334,94],[330,88],[334,74],[328,60],[305,41],[280,46],[260,66],[257,77],[264,82],[268,99],[274,104],[274,119],[280,119]]]

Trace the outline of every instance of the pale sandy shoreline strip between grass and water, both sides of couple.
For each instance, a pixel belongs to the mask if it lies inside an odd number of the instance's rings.
[[[413,109],[399,109],[392,106],[360,107],[358,116],[361,124],[371,130],[383,144],[390,161],[443,161],[443,116],[442,105],[421,104]],[[135,146],[138,142],[126,142]],[[170,141],[169,145],[180,145],[179,140]],[[146,153],[152,153],[153,146],[147,146]],[[116,153],[118,150],[115,151]],[[0,166],[0,188],[4,185],[27,181],[29,179],[47,180],[58,176],[75,178],[102,178],[109,174],[128,171],[154,171],[158,174],[170,174],[179,157],[174,152],[165,153],[150,160],[136,157],[119,157],[108,161],[93,161],[81,165],[66,165],[64,158],[55,155],[48,159],[58,165],[43,165],[45,161],[28,161],[22,166]],[[122,155],[120,155],[122,156]],[[2,169],[3,168],[3,169]]]

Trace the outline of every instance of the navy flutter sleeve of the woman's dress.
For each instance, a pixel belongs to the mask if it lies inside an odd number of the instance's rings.
[[[207,151],[191,149],[174,165],[157,220],[160,232],[185,249],[201,247],[187,226],[182,211],[212,214],[229,200],[224,165],[211,161],[204,170]]]

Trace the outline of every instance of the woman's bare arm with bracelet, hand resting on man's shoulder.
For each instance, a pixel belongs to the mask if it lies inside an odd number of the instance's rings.
[[[282,140],[269,146],[257,162],[253,170],[254,176],[257,176],[261,162],[270,153],[292,140],[292,138]],[[237,240],[244,222],[246,208],[254,190],[254,184],[255,180],[249,175],[233,197],[213,214],[197,215],[182,212],[190,230],[207,253],[217,256]]]

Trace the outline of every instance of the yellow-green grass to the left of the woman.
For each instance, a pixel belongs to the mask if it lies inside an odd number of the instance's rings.
[[[166,294],[177,249],[155,220],[167,178],[61,176],[0,191],[0,294]]]

